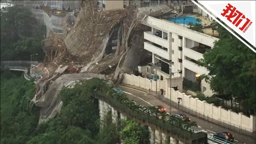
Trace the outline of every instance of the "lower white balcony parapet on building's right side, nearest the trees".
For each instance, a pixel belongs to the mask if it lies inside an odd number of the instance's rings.
[[[196,63],[191,62],[189,60],[183,60],[182,64],[183,64],[184,68],[187,68],[197,74],[208,74],[208,71],[205,67],[198,66]]]

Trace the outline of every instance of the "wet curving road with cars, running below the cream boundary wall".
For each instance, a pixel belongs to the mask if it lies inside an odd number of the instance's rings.
[[[134,100],[135,102],[138,102],[141,105],[144,106],[150,106],[150,105],[162,105],[166,108],[167,112],[170,112],[170,106],[163,101],[159,100],[155,96],[148,94],[146,92],[143,92],[141,90],[137,90],[134,88],[128,88],[125,86],[117,86],[117,88],[121,89],[124,91],[126,96]],[[191,121],[196,121],[198,124],[198,127],[196,129],[198,130],[204,130],[204,132],[207,132],[208,134],[216,134],[218,132],[230,132],[231,134],[234,135],[234,143],[236,144],[256,144],[256,139],[247,136],[245,134],[241,134],[239,132],[236,132],[234,130],[224,128],[222,126],[218,126],[217,124],[214,124],[212,122],[208,122],[206,120],[197,118],[195,116],[192,116],[186,112],[182,112],[174,107],[171,107],[171,114],[186,114],[191,118]]]

